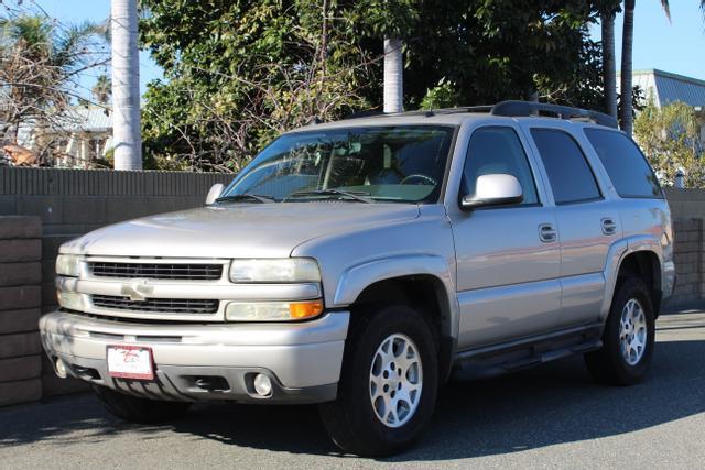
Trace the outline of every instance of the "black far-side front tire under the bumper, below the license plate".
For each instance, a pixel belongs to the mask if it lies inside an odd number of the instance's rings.
[[[185,402],[140,398],[107,386],[94,385],[93,391],[110,414],[139,424],[162,424],[180,418],[191,406]]]

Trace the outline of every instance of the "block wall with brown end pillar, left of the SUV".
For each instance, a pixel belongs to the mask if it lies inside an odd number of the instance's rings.
[[[87,390],[82,381],[56,378],[48,359],[44,353],[39,354],[37,349],[39,317],[57,306],[54,263],[62,243],[109,223],[198,207],[213,184],[227,184],[231,179],[232,175],[216,173],[0,166],[0,220],[3,221],[0,223],[6,227],[0,228],[0,233],[4,233],[0,236],[0,335],[3,328],[20,335],[8,336],[7,341],[0,337],[0,405]],[[25,237],[21,223],[7,222],[11,219],[33,220],[32,230],[28,232],[31,237]],[[6,255],[12,260],[31,255],[32,262],[15,263],[6,270]],[[32,293],[32,308],[6,315],[4,305],[20,302],[13,297],[20,291],[13,288],[6,293],[4,283],[15,287],[25,285]],[[8,354],[9,350],[15,351],[13,354],[36,352],[31,359],[20,357],[3,362],[3,345]],[[20,375],[10,372],[15,370],[25,372]],[[28,375],[32,375],[29,382],[18,379]],[[3,376],[8,378],[6,382]],[[9,398],[4,400],[6,396]]]

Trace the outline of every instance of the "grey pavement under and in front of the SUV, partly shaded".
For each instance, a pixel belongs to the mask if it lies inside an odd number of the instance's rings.
[[[164,427],[91,396],[0,409],[0,468],[705,468],[705,313],[662,316],[649,379],[593,384],[579,358],[452,383],[413,450],[340,456],[313,406],[197,406]]]

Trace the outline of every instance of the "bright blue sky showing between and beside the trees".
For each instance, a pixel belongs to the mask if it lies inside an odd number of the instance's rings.
[[[110,13],[110,0],[34,0],[50,15],[62,22],[100,21]],[[665,18],[661,2],[641,0],[634,13],[634,69],[661,68],[675,74],[705,79],[705,23],[696,0],[672,0],[672,23]],[[617,68],[621,57],[621,14],[616,21]],[[599,40],[599,25],[590,29]],[[95,73],[94,75],[99,75]],[[149,54],[140,54],[140,83],[162,76],[161,69]],[[95,78],[87,77],[90,88]]]

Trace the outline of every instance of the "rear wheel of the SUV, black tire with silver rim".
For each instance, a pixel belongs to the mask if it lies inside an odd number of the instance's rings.
[[[593,378],[608,385],[633,385],[649,370],[653,354],[655,320],[651,295],[638,277],[617,288],[603,332],[603,347],[585,354]]]

